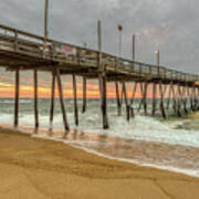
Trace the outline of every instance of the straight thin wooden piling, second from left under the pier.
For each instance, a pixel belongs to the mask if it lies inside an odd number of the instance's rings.
[[[34,127],[39,128],[39,111],[38,111],[38,70],[34,70]]]

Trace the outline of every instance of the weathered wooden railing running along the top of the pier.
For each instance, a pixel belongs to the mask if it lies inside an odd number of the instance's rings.
[[[146,78],[182,82],[199,81],[199,75],[182,73],[164,66],[158,67],[153,64],[133,62],[127,59],[55,40],[45,40],[43,36],[2,24],[0,24],[0,50],[76,65],[88,65],[94,67],[105,65],[106,69],[115,72],[127,72],[130,75],[139,75]]]

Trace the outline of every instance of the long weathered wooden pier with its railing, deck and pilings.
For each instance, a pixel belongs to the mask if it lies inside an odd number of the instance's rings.
[[[86,112],[87,80],[98,80],[103,128],[109,127],[106,100],[106,86],[108,82],[115,83],[118,115],[122,113],[122,101],[124,97],[127,121],[134,117],[137,112],[133,105],[138,86],[143,95],[138,112],[140,108],[144,108],[145,115],[155,116],[159,108],[163,117],[167,118],[167,111],[171,104],[174,113],[178,116],[188,114],[189,111],[199,109],[199,75],[126,60],[102,52],[101,46],[98,51],[81,48],[2,24],[0,24],[0,66],[15,73],[14,126],[19,124],[20,71],[25,70],[33,71],[35,128],[39,128],[40,124],[38,109],[38,71],[45,71],[52,74],[50,124],[53,123],[55,81],[57,82],[63,124],[66,132],[70,130],[70,124],[64,105],[62,75],[71,74],[73,77],[74,117],[76,125],[78,125],[76,76],[82,76],[83,78],[83,113]],[[132,83],[133,85],[132,98],[127,96],[126,83]],[[147,108],[149,85],[153,87],[151,113]],[[169,96],[166,96],[166,92],[169,93]],[[159,96],[157,93],[159,93]],[[159,107],[157,98],[160,98]],[[165,98],[167,98],[167,102]]]

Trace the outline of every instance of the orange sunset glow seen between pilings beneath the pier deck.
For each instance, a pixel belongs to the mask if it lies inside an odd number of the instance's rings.
[[[12,81],[11,81],[12,82]],[[28,82],[28,85],[24,85],[24,83]],[[50,83],[51,81],[44,81],[40,78],[39,82],[39,97],[51,97],[51,88],[50,88]],[[32,86],[32,80],[25,80],[20,84],[20,97],[33,97],[33,92],[34,88]],[[128,97],[132,97],[132,91],[133,91],[134,84],[126,84],[127,87],[127,95]],[[77,82],[77,96],[82,97],[83,92],[82,92],[82,83]],[[149,85],[148,90],[148,97],[151,97],[151,86]],[[73,97],[73,85],[72,82],[69,81],[63,81],[63,93],[64,97]],[[59,97],[59,91],[57,87],[55,90],[55,96]],[[98,84],[97,82],[87,82],[87,97],[98,97]],[[14,84],[13,83],[6,83],[6,82],[0,82],[0,97],[14,97]],[[107,97],[115,97],[115,85],[114,83],[108,83],[107,84]],[[142,97],[140,94],[140,88],[138,86],[137,92],[136,92],[136,97]]]

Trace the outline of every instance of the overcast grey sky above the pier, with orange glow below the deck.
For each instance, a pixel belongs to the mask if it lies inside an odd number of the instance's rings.
[[[136,35],[136,60],[199,74],[198,0],[49,0],[51,39],[96,49],[97,20],[102,21],[103,51],[118,54],[117,24],[122,24],[124,57],[132,59]],[[0,23],[43,35],[44,0],[6,0],[0,3]],[[13,73],[0,71],[0,96],[13,96]],[[21,74],[21,96],[32,96],[32,72]],[[40,73],[40,96],[50,96],[50,75]],[[64,77],[65,95],[72,95],[71,77]],[[78,80],[81,95],[81,80]],[[96,96],[97,82],[88,95]],[[113,85],[109,85],[112,96]]]

